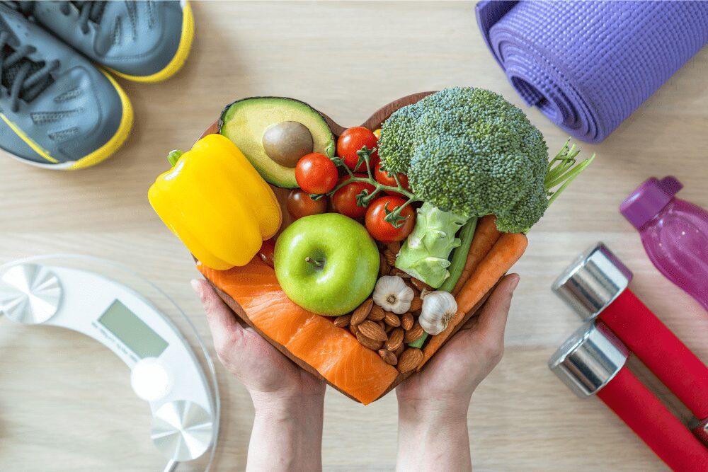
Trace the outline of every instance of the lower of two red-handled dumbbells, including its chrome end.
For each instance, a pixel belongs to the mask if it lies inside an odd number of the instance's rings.
[[[625,363],[627,347],[603,323],[586,323],[549,359],[578,396],[595,395],[675,471],[707,471],[708,449]]]

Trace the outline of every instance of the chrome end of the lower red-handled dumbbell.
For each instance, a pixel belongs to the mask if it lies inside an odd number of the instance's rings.
[[[551,356],[548,367],[573,393],[598,393],[627,362],[629,351],[603,323],[583,324]]]

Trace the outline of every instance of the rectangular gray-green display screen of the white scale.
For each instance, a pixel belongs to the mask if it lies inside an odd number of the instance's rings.
[[[113,333],[140,359],[159,357],[167,349],[167,341],[118,300],[110,304],[101,318],[98,318],[98,323]]]

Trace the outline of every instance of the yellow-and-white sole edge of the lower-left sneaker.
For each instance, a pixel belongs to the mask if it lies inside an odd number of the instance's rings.
[[[6,122],[6,124],[13,130],[13,132],[15,132],[15,134],[17,134],[20,139],[27,143],[27,145],[30,146],[30,148],[32,148],[37,154],[42,156],[44,159],[47,159],[48,163],[29,161],[28,159],[24,159],[20,156],[16,156],[15,154],[11,153],[7,153],[7,155],[11,156],[13,159],[22,161],[23,163],[27,163],[30,166],[35,166],[44,169],[52,169],[54,171],[74,171],[76,169],[95,166],[97,163],[105,161],[105,159],[108,159],[108,157],[112,156],[115,151],[120,148],[123,142],[125,142],[125,139],[127,139],[127,137],[130,135],[130,129],[132,128],[133,124],[133,110],[132,104],[130,103],[130,99],[125,94],[125,91],[120,88],[118,82],[116,82],[115,79],[113,79],[113,77],[110,76],[110,74],[108,74],[103,69],[99,70],[101,70],[101,72],[110,81],[110,84],[113,85],[113,88],[115,88],[116,93],[118,93],[118,96],[120,97],[120,104],[122,105],[122,117],[120,118],[120,124],[118,125],[118,129],[115,131],[115,134],[113,134],[113,137],[111,137],[108,142],[103,144],[103,146],[101,146],[100,148],[96,149],[96,151],[91,152],[91,154],[87,154],[86,156],[83,156],[80,159],[77,159],[76,161],[67,161],[59,163],[57,159],[50,156],[50,154],[45,149],[43,149],[42,146],[37,144],[32,138],[30,138],[25,132],[23,132],[22,129],[20,129],[17,125],[8,120],[8,118],[3,113],[0,113],[0,118],[4,122]]]

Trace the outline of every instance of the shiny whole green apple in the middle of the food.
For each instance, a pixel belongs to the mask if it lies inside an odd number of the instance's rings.
[[[349,313],[374,289],[379,251],[364,226],[338,213],[297,219],[275,243],[275,276],[287,297],[326,316]]]

